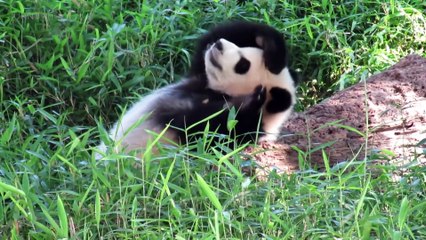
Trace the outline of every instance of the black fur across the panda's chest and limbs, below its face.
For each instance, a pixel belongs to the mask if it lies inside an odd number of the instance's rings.
[[[181,142],[185,142],[187,135],[196,136],[203,132],[205,123],[195,125],[191,129],[187,127],[206,119],[221,110],[225,110],[210,120],[210,131],[217,131],[218,134],[228,135],[227,129],[228,115],[233,106],[237,110],[235,127],[237,139],[247,141],[253,140],[253,137],[246,138],[246,133],[256,133],[258,121],[260,118],[260,109],[265,103],[266,89],[260,85],[253,90],[252,94],[239,97],[230,97],[216,91],[205,89],[203,91],[187,91],[191,89],[190,82],[178,85],[170,93],[171,99],[188,100],[193,105],[190,108],[170,108],[167,103],[160,103],[154,111],[152,118],[159,124],[166,125],[170,123],[176,129]],[[208,101],[206,101],[208,99]],[[183,131],[186,129],[186,132]]]

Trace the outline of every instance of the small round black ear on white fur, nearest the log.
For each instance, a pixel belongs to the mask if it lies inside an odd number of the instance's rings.
[[[266,104],[266,111],[279,113],[289,109],[292,105],[292,96],[287,89],[273,87],[269,90],[271,100]]]

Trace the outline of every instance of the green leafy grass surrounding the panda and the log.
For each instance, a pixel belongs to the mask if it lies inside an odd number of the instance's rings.
[[[245,18],[284,32],[303,110],[407,54],[426,56],[423,1],[4,0],[0,9],[0,239],[426,237],[416,159],[397,181],[398,167],[348,159],[259,182],[226,138],[143,162],[95,161],[92,151],[120,106],[184,75],[213,23]]]

